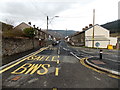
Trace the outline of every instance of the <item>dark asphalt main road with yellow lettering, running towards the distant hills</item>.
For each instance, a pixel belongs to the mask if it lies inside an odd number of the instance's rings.
[[[0,70],[2,87],[18,88],[17,90],[118,88],[118,79],[85,67],[72,55],[75,52],[81,53],[80,59],[91,56],[71,48],[64,41],[56,46],[38,50]]]

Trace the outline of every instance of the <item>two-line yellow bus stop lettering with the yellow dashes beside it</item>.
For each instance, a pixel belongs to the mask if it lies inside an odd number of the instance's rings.
[[[27,57],[26,60],[33,60],[33,61],[52,61],[59,64],[60,56],[31,56]],[[31,64],[31,63],[25,63],[16,70],[12,71],[11,74],[34,74],[35,72],[39,75],[45,75],[48,73],[48,70],[50,68],[50,64]],[[55,69],[55,76],[58,76],[59,68]]]

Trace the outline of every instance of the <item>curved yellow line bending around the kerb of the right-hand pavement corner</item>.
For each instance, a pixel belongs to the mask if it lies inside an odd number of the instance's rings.
[[[110,76],[110,77],[112,77],[112,78],[120,79],[119,76],[115,76],[115,75],[112,75],[112,74],[109,74],[109,73],[106,73],[106,72],[103,72],[103,71],[97,70],[97,69],[95,69],[95,68],[93,68],[93,67],[91,67],[91,66],[85,64],[85,63],[84,63],[84,60],[85,60],[85,59],[86,59],[86,58],[80,59],[80,63],[81,63],[82,65],[84,65],[85,67],[90,68],[90,69],[92,69],[92,70],[94,70],[94,71],[96,71],[96,72],[98,72],[98,73],[104,73],[104,74],[107,74],[108,76]]]

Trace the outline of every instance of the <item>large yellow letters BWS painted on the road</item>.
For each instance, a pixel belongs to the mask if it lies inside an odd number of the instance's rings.
[[[11,74],[34,74],[36,72],[39,75],[44,75],[48,72],[49,67],[50,67],[50,64],[26,63],[21,67],[17,68],[16,70],[14,70],[13,72],[11,72]],[[42,69],[42,72],[40,69]]]

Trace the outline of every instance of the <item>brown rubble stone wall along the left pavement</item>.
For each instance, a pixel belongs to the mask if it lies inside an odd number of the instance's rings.
[[[2,38],[2,56],[24,52],[33,49],[33,46],[34,48],[39,47],[38,40]]]

